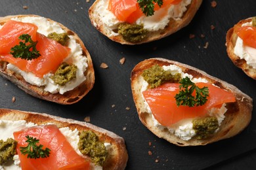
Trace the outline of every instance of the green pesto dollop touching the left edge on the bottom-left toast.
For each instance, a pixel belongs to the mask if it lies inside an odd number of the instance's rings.
[[[0,140],[0,165],[12,160],[13,156],[16,154],[17,142],[8,138],[7,141]]]

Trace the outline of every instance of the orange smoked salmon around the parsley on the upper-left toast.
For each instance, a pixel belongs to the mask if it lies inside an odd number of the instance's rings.
[[[22,71],[43,77],[47,73],[54,73],[63,59],[70,53],[70,48],[48,39],[45,35],[37,33],[37,26],[29,23],[10,20],[0,29],[0,59],[16,65]],[[29,34],[33,41],[37,41],[36,48],[41,54],[39,58],[26,60],[14,58],[11,48],[19,44],[18,37]]]

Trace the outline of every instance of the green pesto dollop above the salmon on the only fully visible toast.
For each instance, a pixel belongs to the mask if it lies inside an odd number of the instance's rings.
[[[146,69],[142,73],[142,77],[149,84],[149,88],[156,88],[165,82],[179,82],[181,80],[181,74],[171,74],[171,71],[165,71],[163,67],[156,64]]]

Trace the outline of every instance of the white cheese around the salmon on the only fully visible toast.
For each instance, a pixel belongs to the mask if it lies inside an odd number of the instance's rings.
[[[183,73],[182,69],[180,67],[178,67],[177,65],[163,66],[163,69],[165,71],[171,71],[172,75],[175,75],[176,73],[180,73],[181,78],[185,78],[186,76],[188,76],[188,78],[190,78],[190,80],[194,83],[196,83],[196,82],[207,82],[207,80],[205,78],[193,78],[192,75],[188,75],[188,73]],[[143,80],[141,93],[144,92],[145,90],[147,90],[147,87],[148,87],[148,82]],[[167,128],[167,129],[169,129],[169,131],[171,133],[173,133],[174,135],[176,135],[177,137],[181,138],[184,141],[188,141],[196,135],[196,132],[193,129],[192,119],[181,120],[180,122],[177,122],[172,127],[162,126],[158,122],[158,120],[156,120],[156,118],[154,118],[154,115],[152,114],[152,111],[151,111],[148,103],[144,99],[143,95],[142,95],[142,98],[144,100],[144,105],[146,106],[146,112],[151,114],[153,124],[154,124],[155,127],[158,127],[160,129]],[[208,112],[207,112],[207,114],[209,116],[215,116],[217,118],[219,126],[221,125],[221,122],[224,120],[224,117],[225,117],[224,113],[227,110],[225,106],[226,106],[226,104],[223,104],[221,109],[213,108],[213,109],[209,109]]]

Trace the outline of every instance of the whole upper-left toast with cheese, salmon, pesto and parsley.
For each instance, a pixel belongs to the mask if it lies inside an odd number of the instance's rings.
[[[0,18],[0,75],[63,105],[82,99],[95,82],[93,61],[77,34],[35,15]]]

